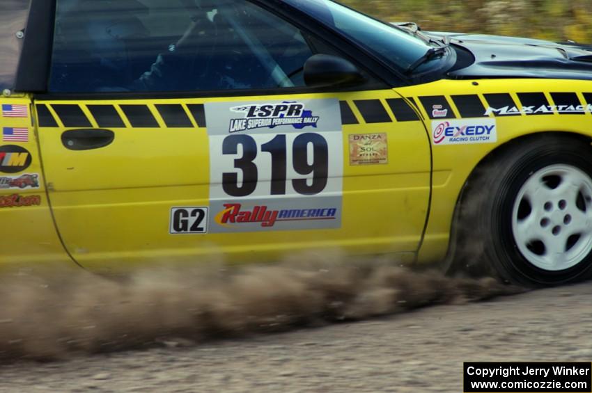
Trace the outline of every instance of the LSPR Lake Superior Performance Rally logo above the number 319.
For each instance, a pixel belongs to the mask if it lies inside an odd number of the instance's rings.
[[[274,128],[291,125],[295,129],[317,127],[318,116],[306,110],[300,102],[282,102],[281,104],[252,104],[231,108],[235,113],[243,113],[242,118],[231,119],[228,132],[248,131],[258,128]]]

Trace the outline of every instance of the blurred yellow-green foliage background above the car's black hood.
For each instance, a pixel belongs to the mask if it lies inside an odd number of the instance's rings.
[[[592,43],[592,0],[341,0],[427,31],[519,35]]]

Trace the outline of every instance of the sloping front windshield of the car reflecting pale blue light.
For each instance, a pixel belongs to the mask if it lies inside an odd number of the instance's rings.
[[[412,33],[330,0],[285,0],[329,29],[358,42],[400,70],[407,70],[430,49]]]

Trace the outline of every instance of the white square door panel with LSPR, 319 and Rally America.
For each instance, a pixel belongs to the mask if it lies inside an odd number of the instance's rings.
[[[209,232],[341,227],[337,99],[205,104]]]

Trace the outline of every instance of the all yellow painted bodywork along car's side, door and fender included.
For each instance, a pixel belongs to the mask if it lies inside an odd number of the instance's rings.
[[[477,119],[494,119],[494,143],[436,145],[433,122],[422,97],[444,96],[455,120],[466,118],[454,97],[476,96],[488,108],[489,95],[509,94],[519,111],[527,106],[523,93],[543,93],[550,106],[556,93],[576,93],[581,113],[515,115],[490,113]],[[13,261],[67,261],[68,254],[94,269],[129,266],[147,261],[198,261],[223,256],[231,262],[281,259],[307,250],[339,249],[352,254],[416,253],[419,262],[433,262],[446,255],[455,204],[467,178],[478,163],[496,148],[529,134],[548,131],[592,135],[592,113],[586,99],[592,82],[497,79],[478,81],[442,80],[396,90],[352,93],[319,93],[287,96],[217,97],[130,100],[36,100],[55,125],[35,127],[36,119],[0,118],[1,127],[29,127],[29,142],[7,143],[31,152],[29,168],[38,173],[38,189],[18,191],[40,195],[40,204],[0,208],[3,252],[0,263]],[[398,121],[389,99],[405,97],[418,116]],[[355,124],[342,127],[343,217],[337,229],[284,230],[271,232],[169,234],[171,207],[204,206],[210,203],[210,136],[190,107],[215,102],[265,102],[299,99],[337,99],[355,117]],[[368,121],[359,100],[374,100],[388,118]],[[1,104],[29,105],[29,97],[0,99]],[[167,127],[159,113],[161,104],[182,106],[191,127]],[[77,106],[90,127],[66,127],[60,105]],[[100,127],[91,106],[111,105],[123,127]],[[148,108],[155,127],[134,127],[122,106]],[[45,113],[47,117],[47,113]],[[38,114],[39,116],[40,114]],[[431,114],[433,117],[433,114]],[[70,120],[66,119],[68,122]],[[111,145],[95,150],[65,148],[64,131],[77,128],[108,128],[116,134]],[[308,130],[304,130],[308,131]],[[303,131],[303,132],[304,132]],[[272,131],[273,132],[273,131]],[[351,165],[349,138],[353,134],[387,134],[387,163]],[[329,153],[331,157],[331,152]],[[431,158],[431,160],[430,160]],[[433,167],[432,167],[433,166]],[[433,172],[430,173],[430,168]],[[22,173],[0,173],[13,177]],[[432,182],[430,198],[430,179]],[[15,190],[0,189],[6,197]],[[427,227],[426,216],[429,219]],[[51,210],[50,210],[51,204]],[[215,214],[212,212],[210,214]],[[52,217],[53,214],[53,217]],[[59,232],[56,232],[54,220]],[[422,241],[423,236],[423,241]],[[421,247],[421,248],[420,248]]]

